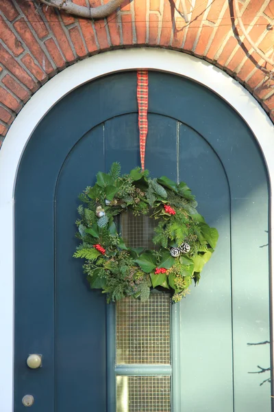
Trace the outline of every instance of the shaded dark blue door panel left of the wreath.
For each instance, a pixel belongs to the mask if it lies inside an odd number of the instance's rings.
[[[56,187],[56,411],[84,411],[88,404],[95,404],[99,411],[106,409],[105,297],[99,290],[90,290],[86,277],[80,275],[82,262],[72,257],[78,242],[69,225],[79,218],[75,194],[95,183],[103,162],[104,133],[100,125],[71,150]]]

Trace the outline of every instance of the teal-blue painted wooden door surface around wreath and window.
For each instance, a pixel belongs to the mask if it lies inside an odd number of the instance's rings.
[[[133,71],[99,78],[58,102],[21,159],[15,412],[25,410],[27,393],[38,412],[106,412],[111,403],[105,297],[88,288],[72,255],[77,196],[113,161],[123,172],[140,164]],[[200,84],[150,72],[146,167],[152,176],[186,181],[199,213],[219,231],[199,286],[173,306],[179,356],[173,358],[171,410],[270,412],[271,385],[260,385],[270,372],[251,373],[271,365],[269,189],[251,131]],[[32,353],[42,354],[41,368],[27,367]]]

